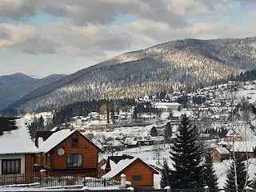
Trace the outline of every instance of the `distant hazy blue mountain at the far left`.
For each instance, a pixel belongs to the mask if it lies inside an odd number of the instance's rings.
[[[66,74],[51,74],[46,78],[32,78],[26,74],[0,76],[0,110],[17,102],[26,94],[66,77]]]

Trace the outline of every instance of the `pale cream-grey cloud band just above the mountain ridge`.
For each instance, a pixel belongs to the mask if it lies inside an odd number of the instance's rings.
[[[200,22],[183,28],[165,22],[130,22],[118,26],[0,25],[0,47],[26,54],[60,54],[102,61],[124,50],[138,50],[183,38],[246,38],[256,26],[234,26],[225,22]],[[2,37],[2,38],[1,38]]]

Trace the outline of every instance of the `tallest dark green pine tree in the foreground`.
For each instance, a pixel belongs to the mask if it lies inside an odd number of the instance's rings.
[[[171,170],[171,187],[173,189],[202,188],[202,166],[200,166],[201,153],[196,145],[196,137],[190,119],[182,116],[178,127],[177,137],[171,146],[171,159],[174,169]]]

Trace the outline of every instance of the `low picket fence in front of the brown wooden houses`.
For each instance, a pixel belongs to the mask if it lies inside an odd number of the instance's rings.
[[[88,186],[88,187],[106,187],[116,186],[120,182],[114,178],[89,178],[83,175],[62,176],[62,177],[39,177],[38,174],[6,174],[0,175],[0,186],[11,184],[40,183],[41,187],[51,186]]]

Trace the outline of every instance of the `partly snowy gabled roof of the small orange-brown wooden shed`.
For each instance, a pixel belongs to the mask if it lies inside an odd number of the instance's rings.
[[[154,170],[152,166],[146,164],[139,158],[132,157],[130,155],[122,155],[122,156],[111,156],[108,159],[110,163],[110,172],[104,174],[102,178],[114,178],[116,175],[121,174],[122,170],[125,170],[126,167],[130,166],[133,162],[140,161],[144,163],[146,166],[150,168],[154,172],[154,174],[158,174],[157,170]],[[138,170],[139,171],[139,170]]]

